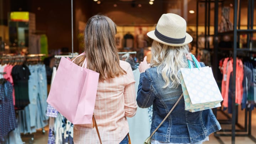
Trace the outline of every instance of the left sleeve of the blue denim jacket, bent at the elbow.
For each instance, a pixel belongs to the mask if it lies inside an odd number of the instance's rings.
[[[153,104],[155,94],[153,92],[152,81],[148,70],[140,74],[138,92],[137,92],[137,104],[141,108],[148,108]]]

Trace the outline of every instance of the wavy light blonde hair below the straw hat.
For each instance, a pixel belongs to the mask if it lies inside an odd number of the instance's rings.
[[[187,68],[188,62],[188,45],[185,46],[168,46],[166,44],[153,41],[151,48],[152,58],[151,66],[158,66],[158,74],[161,73],[165,85],[177,88],[180,82],[180,68]]]

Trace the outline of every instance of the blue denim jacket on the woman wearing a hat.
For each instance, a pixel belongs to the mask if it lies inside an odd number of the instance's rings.
[[[203,63],[200,64],[204,66]],[[157,73],[157,67],[146,69],[140,74],[137,104],[141,108],[153,105],[150,134],[159,126],[182,94],[181,85],[178,88],[162,88],[164,85],[165,81],[161,73]],[[186,111],[184,98],[181,98],[151,139],[167,143],[196,143],[220,129],[220,124],[211,109],[193,113]]]

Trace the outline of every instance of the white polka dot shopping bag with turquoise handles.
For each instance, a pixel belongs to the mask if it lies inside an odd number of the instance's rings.
[[[212,68],[201,67],[191,55],[196,68],[189,61],[189,68],[181,68],[181,86],[185,100],[185,110],[196,112],[220,107],[223,101],[219,87],[214,79]]]

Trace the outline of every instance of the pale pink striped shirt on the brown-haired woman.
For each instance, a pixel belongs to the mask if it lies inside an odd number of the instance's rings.
[[[120,66],[126,75],[98,83],[94,114],[102,144],[119,144],[129,132],[126,117],[133,117],[137,110],[132,68],[122,60]],[[74,125],[74,143],[100,143],[92,124]]]

